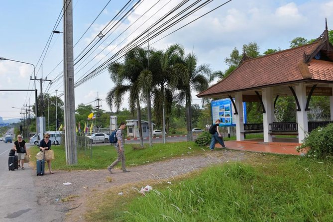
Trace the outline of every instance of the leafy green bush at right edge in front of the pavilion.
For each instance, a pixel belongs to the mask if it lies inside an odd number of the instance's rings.
[[[310,135],[304,139],[303,144],[296,149],[298,152],[308,149],[306,156],[310,158],[333,157],[333,123],[312,130]]]

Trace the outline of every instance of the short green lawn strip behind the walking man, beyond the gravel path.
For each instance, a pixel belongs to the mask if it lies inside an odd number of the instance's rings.
[[[205,151],[194,142],[156,143],[153,147],[145,144],[144,149],[133,149],[137,144],[125,144],[126,166],[137,166],[151,162],[161,161],[182,155],[196,155]],[[88,150],[77,150],[78,164],[66,165],[66,154],[64,145],[52,146],[55,160],[52,160],[54,170],[92,170],[106,169],[117,157],[113,144],[93,146],[93,152]],[[31,161],[35,162],[35,155],[39,148],[30,148]],[[92,158],[91,158],[92,156]],[[120,165],[120,164],[119,164]]]

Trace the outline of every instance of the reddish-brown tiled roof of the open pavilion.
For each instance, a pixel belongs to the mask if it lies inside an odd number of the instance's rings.
[[[303,54],[313,53],[320,45],[321,41],[317,41],[245,60],[229,76],[197,96],[210,97],[305,79],[333,81],[333,62],[316,59],[312,59],[310,65],[303,62]]]

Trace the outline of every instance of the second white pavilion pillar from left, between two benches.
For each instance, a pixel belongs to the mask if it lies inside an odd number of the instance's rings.
[[[264,125],[264,142],[272,142],[272,135],[269,134],[269,123],[273,122],[274,105],[272,88],[263,88],[261,91],[262,103],[264,104],[266,113],[262,113]]]

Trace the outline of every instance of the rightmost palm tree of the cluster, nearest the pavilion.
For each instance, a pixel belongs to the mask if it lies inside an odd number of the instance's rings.
[[[190,53],[186,56],[184,64],[188,70],[188,78],[186,82],[178,83],[179,94],[177,99],[186,104],[186,120],[187,120],[187,139],[193,140],[192,135],[192,96],[191,92],[201,92],[208,88],[211,80],[211,69],[208,64],[203,64],[197,67],[197,58],[195,54]]]

